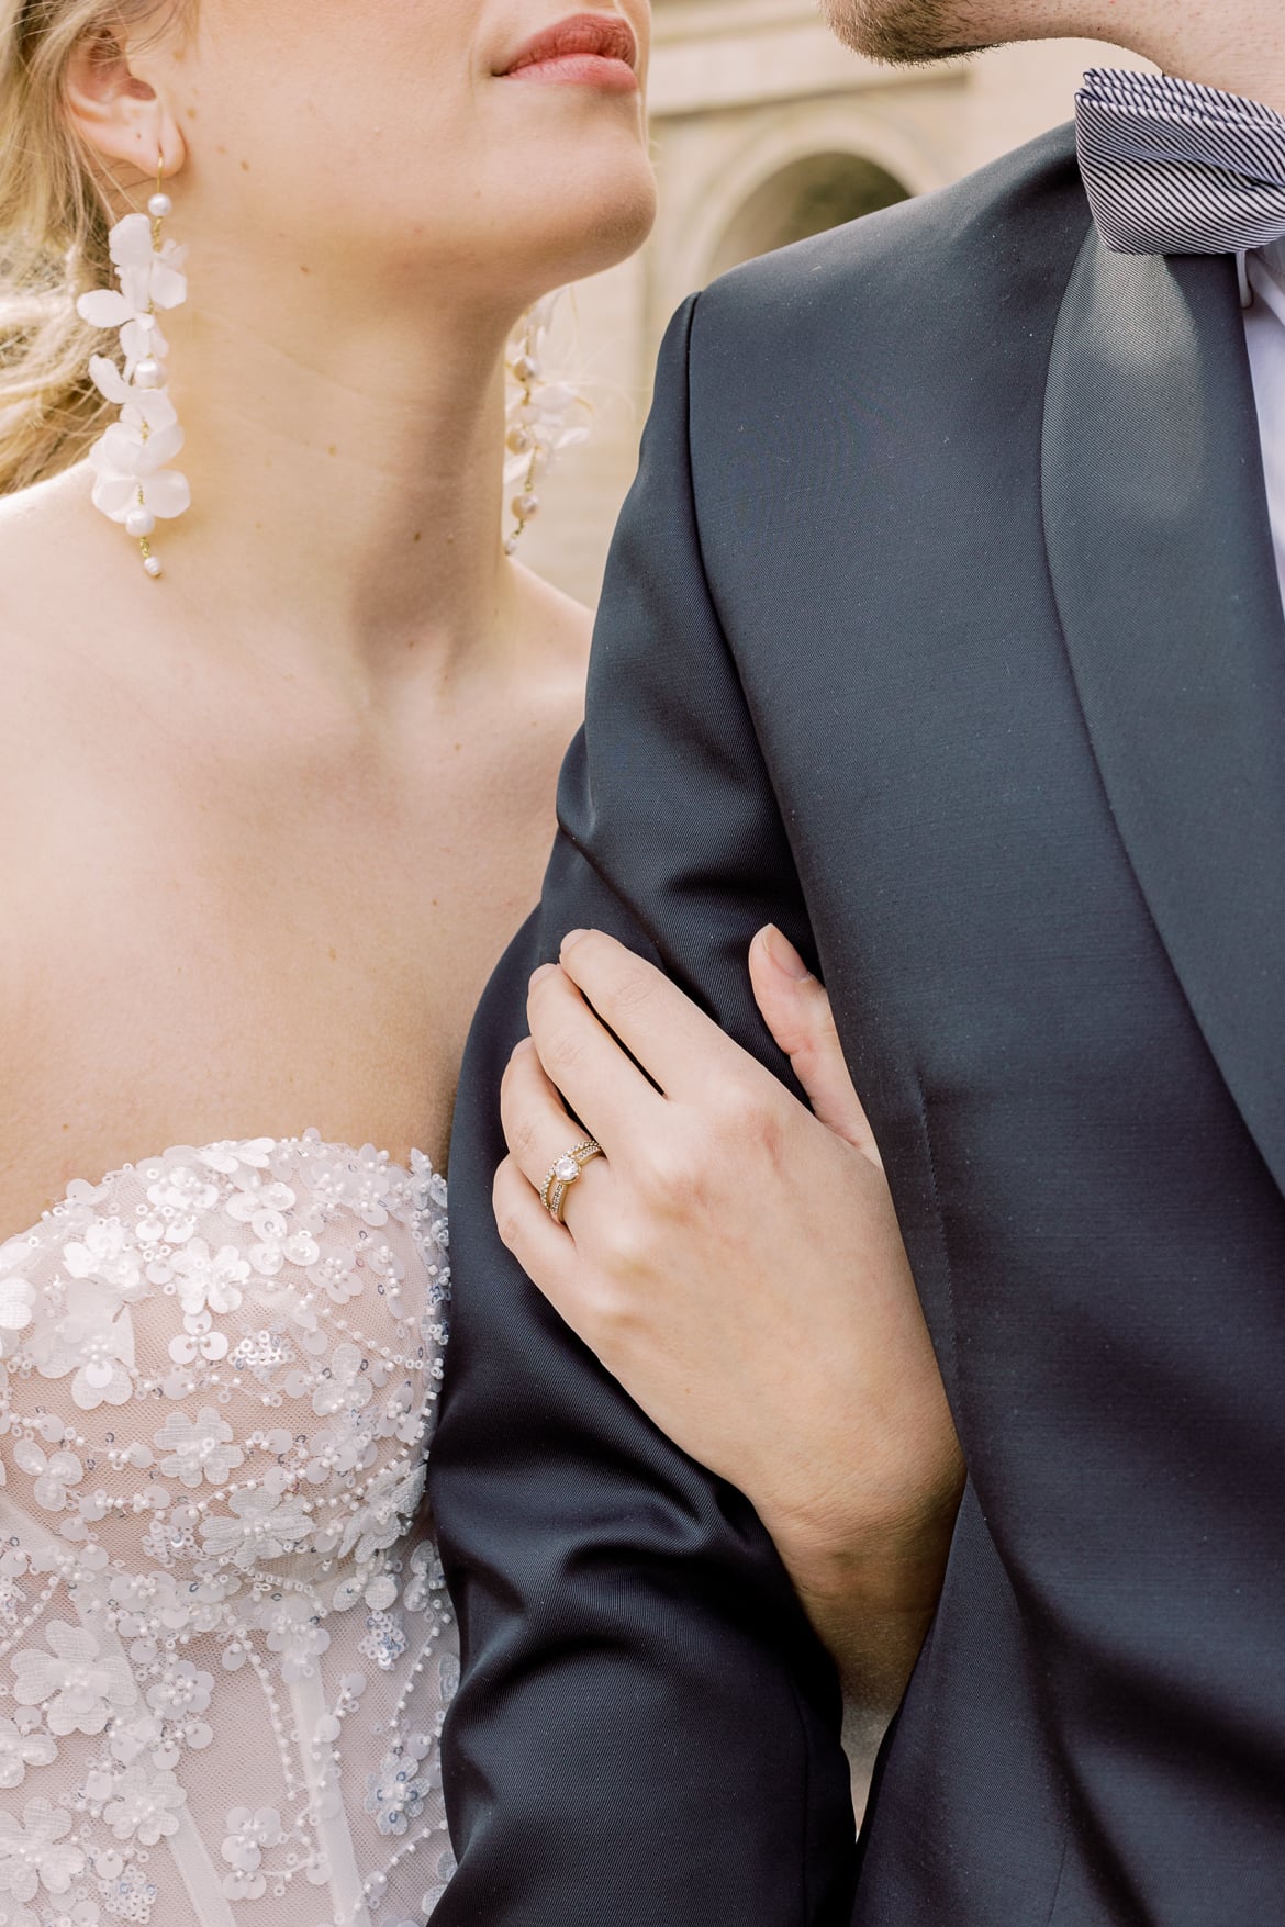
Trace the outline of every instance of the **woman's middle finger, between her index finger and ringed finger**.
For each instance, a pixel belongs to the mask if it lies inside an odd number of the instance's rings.
[[[665,1100],[630,1062],[607,1025],[599,1023],[561,965],[547,964],[532,977],[526,1019],[547,1077],[607,1156],[613,1137],[626,1135],[628,1143],[636,1143],[643,1120]],[[555,1145],[551,1158],[584,1137],[574,1120],[570,1123],[572,1139]]]

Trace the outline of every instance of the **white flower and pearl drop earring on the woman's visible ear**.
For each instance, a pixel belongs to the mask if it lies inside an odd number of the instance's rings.
[[[170,343],[160,331],[158,310],[179,308],[187,301],[187,249],[162,239],[171,212],[162,158],[146,214],[127,214],[108,237],[119,291],[102,287],[77,301],[77,314],[92,328],[119,328],[125,356],[123,368],[106,355],[89,362],[98,393],[121,410],[119,422],[89,451],[94,507],[135,538],[152,578],[160,574],[150,543],[156,522],[183,515],[193,499],[187,476],[166,466],[183,447],[183,430],[170,401]]]

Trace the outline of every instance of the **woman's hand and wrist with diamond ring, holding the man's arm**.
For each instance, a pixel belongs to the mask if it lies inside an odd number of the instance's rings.
[[[753,1501],[879,1719],[936,1605],[959,1449],[826,992],[774,929],[749,969],[813,1110],[661,971],[574,931],[505,1073],[495,1216],[632,1399]],[[586,1131],[605,1156],[557,1224],[539,1187]]]

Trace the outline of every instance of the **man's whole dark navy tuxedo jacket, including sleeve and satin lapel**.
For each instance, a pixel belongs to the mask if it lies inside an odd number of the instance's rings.
[[[561,821],[451,1166],[435,1927],[1285,1919],[1285,619],[1235,264],[1108,254],[1063,129],[690,303]],[[859,1865],[763,1530],[489,1208],[561,935],[780,1068],[769,917],[834,998],[971,1472]]]

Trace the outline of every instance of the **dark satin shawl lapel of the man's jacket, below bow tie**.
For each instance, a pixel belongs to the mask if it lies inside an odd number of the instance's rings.
[[[1285,615],[1229,258],[1090,229],[1044,528],[1102,780],[1204,1039],[1285,1189]]]

